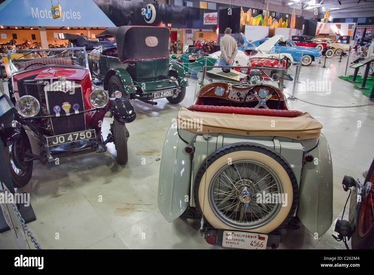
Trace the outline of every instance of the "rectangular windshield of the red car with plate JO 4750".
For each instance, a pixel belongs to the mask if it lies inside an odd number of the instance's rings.
[[[7,51],[7,60],[12,75],[53,65],[88,69],[85,48]]]

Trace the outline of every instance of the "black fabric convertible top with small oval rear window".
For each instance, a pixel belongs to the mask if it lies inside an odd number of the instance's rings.
[[[170,31],[166,27],[121,26],[107,28],[96,37],[115,36],[119,60],[169,58]],[[154,38],[156,37],[156,39]]]

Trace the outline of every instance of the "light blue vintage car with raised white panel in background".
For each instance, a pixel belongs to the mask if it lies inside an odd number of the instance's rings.
[[[265,43],[266,42],[266,43]],[[264,38],[251,43],[252,46],[239,47],[239,50],[259,50],[261,52],[281,52],[289,53],[295,62],[299,62],[303,54],[301,63],[305,66],[310,65],[316,59],[321,58],[321,52],[317,48],[296,46],[291,39],[286,39],[282,35],[276,35],[271,38]]]

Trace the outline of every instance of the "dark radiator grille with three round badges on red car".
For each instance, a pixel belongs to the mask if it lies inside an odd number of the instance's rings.
[[[79,104],[78,111],[84,111],[82,89],[75,88],[74,94],[62,91],[47,91],[47,104],[50,115],[55,115],[53,111],[55,106],[61,108],[60,115],[66,114],[62,109],[62,104],[65,102],[71,105],[70,116],[51,117],[53,134],[61,135],[86,130],[85,114],[75,114],[73,109],[74,104]]]

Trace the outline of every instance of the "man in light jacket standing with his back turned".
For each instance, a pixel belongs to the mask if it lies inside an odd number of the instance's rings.
[[[226,28],[225,35],[220,39],[221,56],[215,65],[231,66],[234,62],[234,58],[237,55],[237,43],[236,40],[230,36],[230,34],[231,29]]]

